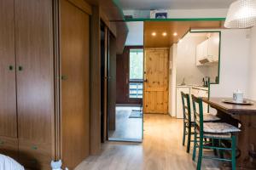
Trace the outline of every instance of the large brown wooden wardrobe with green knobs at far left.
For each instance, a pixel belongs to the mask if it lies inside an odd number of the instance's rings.
[[[90,6],[0,0],[0,153],[30,169],[89,155]]]

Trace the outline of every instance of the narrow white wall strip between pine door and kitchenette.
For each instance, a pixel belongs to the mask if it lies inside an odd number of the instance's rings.
[[[177,43],[170,48],[170,69],[169,69],[169,114],[176,116],[176,62],[177,62]]]

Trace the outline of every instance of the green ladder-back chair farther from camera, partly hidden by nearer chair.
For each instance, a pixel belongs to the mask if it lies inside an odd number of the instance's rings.
[[[186,136],[188,135],[188,142],[187,142],[187,153],[190,150],[190,143],[194,142],[191,141],[191,135],[194,134],[191,132],[191,128],[195,127],[195,122],[191,121],[191,109],[190,109],[190,99],[189,94],[184,94],[181,92],[182,95],[182,104],[183,104],[183,145],[185,145]],[[205,122],[214,122],[219,121],[220,119],[218,116],[213,116],[210,113],[205,114],[204,121]]]

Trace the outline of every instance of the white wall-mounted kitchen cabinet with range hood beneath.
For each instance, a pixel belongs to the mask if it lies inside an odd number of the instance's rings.
[[[218,63],[219,36],[212,34],[196,47],[196,65],[212,65]]]

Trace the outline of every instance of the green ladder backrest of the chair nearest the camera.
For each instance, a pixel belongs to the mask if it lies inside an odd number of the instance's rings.
[[[203,133],[203,123],[204,123],[204,117],[203,117],[203,104],[202,99],[195,97],[195,95],[192,96],[192,103],[193,103],[193,112],[194,112],[194,118],[195,118],[195,127],[197,127],[200,130],[200,134]]]

